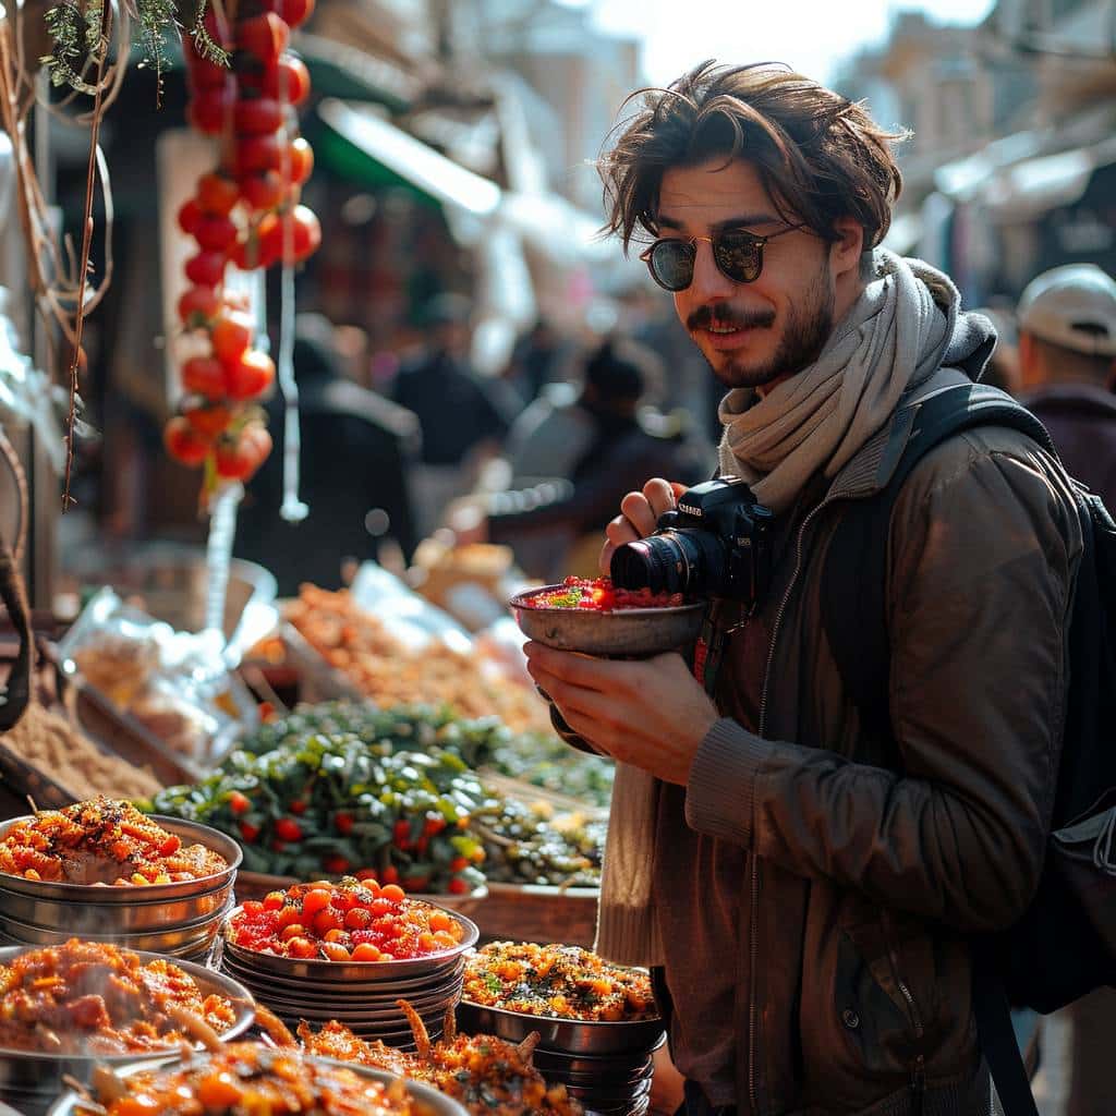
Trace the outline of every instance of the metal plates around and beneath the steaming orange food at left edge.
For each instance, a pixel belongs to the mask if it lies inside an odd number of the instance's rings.
[[[0,964],[10,964],[23,950],[22,946],[0,949]],[[141,958],[145,962],[156,960],[155,955],[151,953],[142,953]],[[174,963],[193,977],[203,997],[223,995],[233,1002],[237,1018],[221,1036],[222,1041],[229,1042],[239,1038],[252,1026],[256,1011],[252,998],[246,988],[203,965],[181,960],[176,960]],[[64,1077],[73,1077],[84,1085],[88,1085],[97,1066],[108,1066],[113,1069],[136,1064],[151,1066],[179,1057],[177,1047],[148,1054],[97,1055],[95,1057],[90,1055],[45,1054],[0,1047],[0,1100],[7,1101],[25,1116],[40,1116],[65,1090]],[[0,1110],[2,1107],[0,1105]]]

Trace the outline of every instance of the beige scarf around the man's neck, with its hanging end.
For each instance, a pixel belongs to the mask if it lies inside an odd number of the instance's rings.
[[[888,421],[903,392],[931,376],[958,340],[960,296],[946,276],[882,249],[876,264],[877,278],[815,364],[760,400],[751,388],[734,388],[721,404],[722,473],[743,477],[777,512],[819,469],[836,475]],[[990,347],[990,327],[975,320],[973,347]],[[962,348],[958,355],[968,357],[970,344]],[[616,766],[596,950],[620,964],[664,960],[652,911],[657,801],[652,776]]]

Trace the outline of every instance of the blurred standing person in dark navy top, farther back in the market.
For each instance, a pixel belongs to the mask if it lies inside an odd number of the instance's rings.
[[[422,429],[422,464],[412,477],[421,538],[439,526],[451,500],[472,488],[511,424],[501,385],[482,379],[469,363],[471,314],[463,295],[433,298],[423,315],[426,352],[404,363],[389,388]]]

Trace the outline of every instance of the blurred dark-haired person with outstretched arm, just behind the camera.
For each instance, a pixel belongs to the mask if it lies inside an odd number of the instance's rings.
[[[619,337],[602,341],[584,358],[576,396],[543,394],[512,426],[507,453],[517,487],[466,501],[451,528],[456,523],[463,541],[510,545],[532,576],[593,577],[600,531],[625,492],[663,471],[685,483],[710,475],[712,460],[684,430],[641,414],[647,384],[661,376],[650,349]],[[478,506],[480,519],[470,522]]]

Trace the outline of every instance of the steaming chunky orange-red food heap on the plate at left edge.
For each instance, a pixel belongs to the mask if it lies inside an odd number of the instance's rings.
[[[0,1046],[57,1055],[126,1055],[220,1035],[232,1003],[203,995],[169,960],[71,939],[0,965]]]

